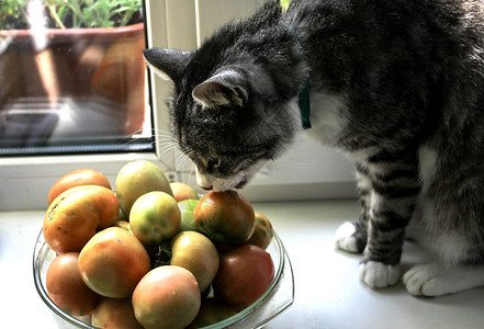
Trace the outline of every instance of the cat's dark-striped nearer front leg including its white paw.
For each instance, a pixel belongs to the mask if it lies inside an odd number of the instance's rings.
[[[413,162],[371,166],[368,243],[360,263],[360,280],[372,288],[396,284],[405,227],[420,186]]]

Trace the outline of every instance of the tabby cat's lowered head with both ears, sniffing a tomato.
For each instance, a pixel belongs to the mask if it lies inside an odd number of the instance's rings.
[[[249,58],[221,64],[221,55],[211,53],[150,48],[144,55],[175,82],[171,131],[193,160],[199,185],[240,189],[300,129],[297,90],[278,89],[270,72]]]

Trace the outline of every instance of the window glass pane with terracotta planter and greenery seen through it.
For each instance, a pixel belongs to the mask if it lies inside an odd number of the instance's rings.
[[[151,150],[142,0],[0,5],[0,156]]]

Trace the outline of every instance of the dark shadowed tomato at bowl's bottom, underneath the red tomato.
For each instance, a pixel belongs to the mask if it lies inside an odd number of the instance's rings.
[[[222,303],[216,298],[203,298],[199,314],[187,329],[203,328],[228,319],[236,315],[235,308]]]

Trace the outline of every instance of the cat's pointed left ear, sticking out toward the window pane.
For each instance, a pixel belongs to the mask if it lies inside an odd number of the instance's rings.
[[[191,60],[192,52],[181,52],[173,49],[149,48],[143,50],[148,65],[156,69],[166,80],[171,79],[179,82],[184,68]]]

